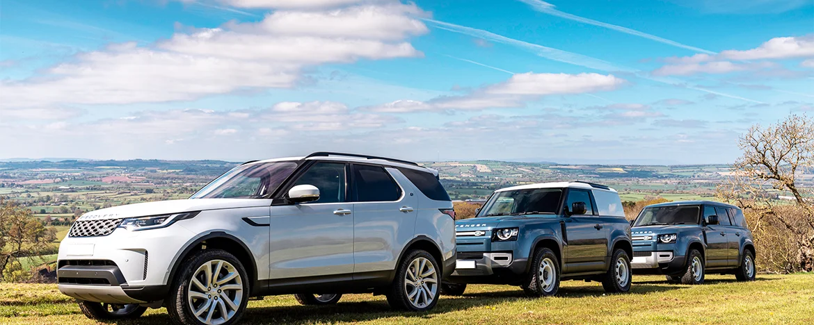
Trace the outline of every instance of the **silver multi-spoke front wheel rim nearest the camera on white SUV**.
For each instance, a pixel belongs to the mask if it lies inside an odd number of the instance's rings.
[[[192,274],[187,297],[192,314],[201,323],[222,324],[232,319],[243,303],[243,279],[230,262],[204,262]]]

